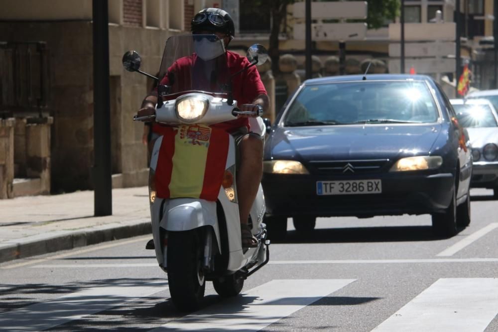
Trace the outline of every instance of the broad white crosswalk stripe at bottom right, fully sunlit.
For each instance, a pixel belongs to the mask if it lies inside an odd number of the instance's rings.
[[[498,279],[439,279],[373,332],[482,332],[498,314]]]

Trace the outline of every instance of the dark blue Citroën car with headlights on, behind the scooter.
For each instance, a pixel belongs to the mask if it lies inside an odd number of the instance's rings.
[[[317,217],[432,216],[436,235],[470,223],[472,154],[448,98],[424,75],[305,81],[265,143],[268,236],[287,218],[312,231]]]

